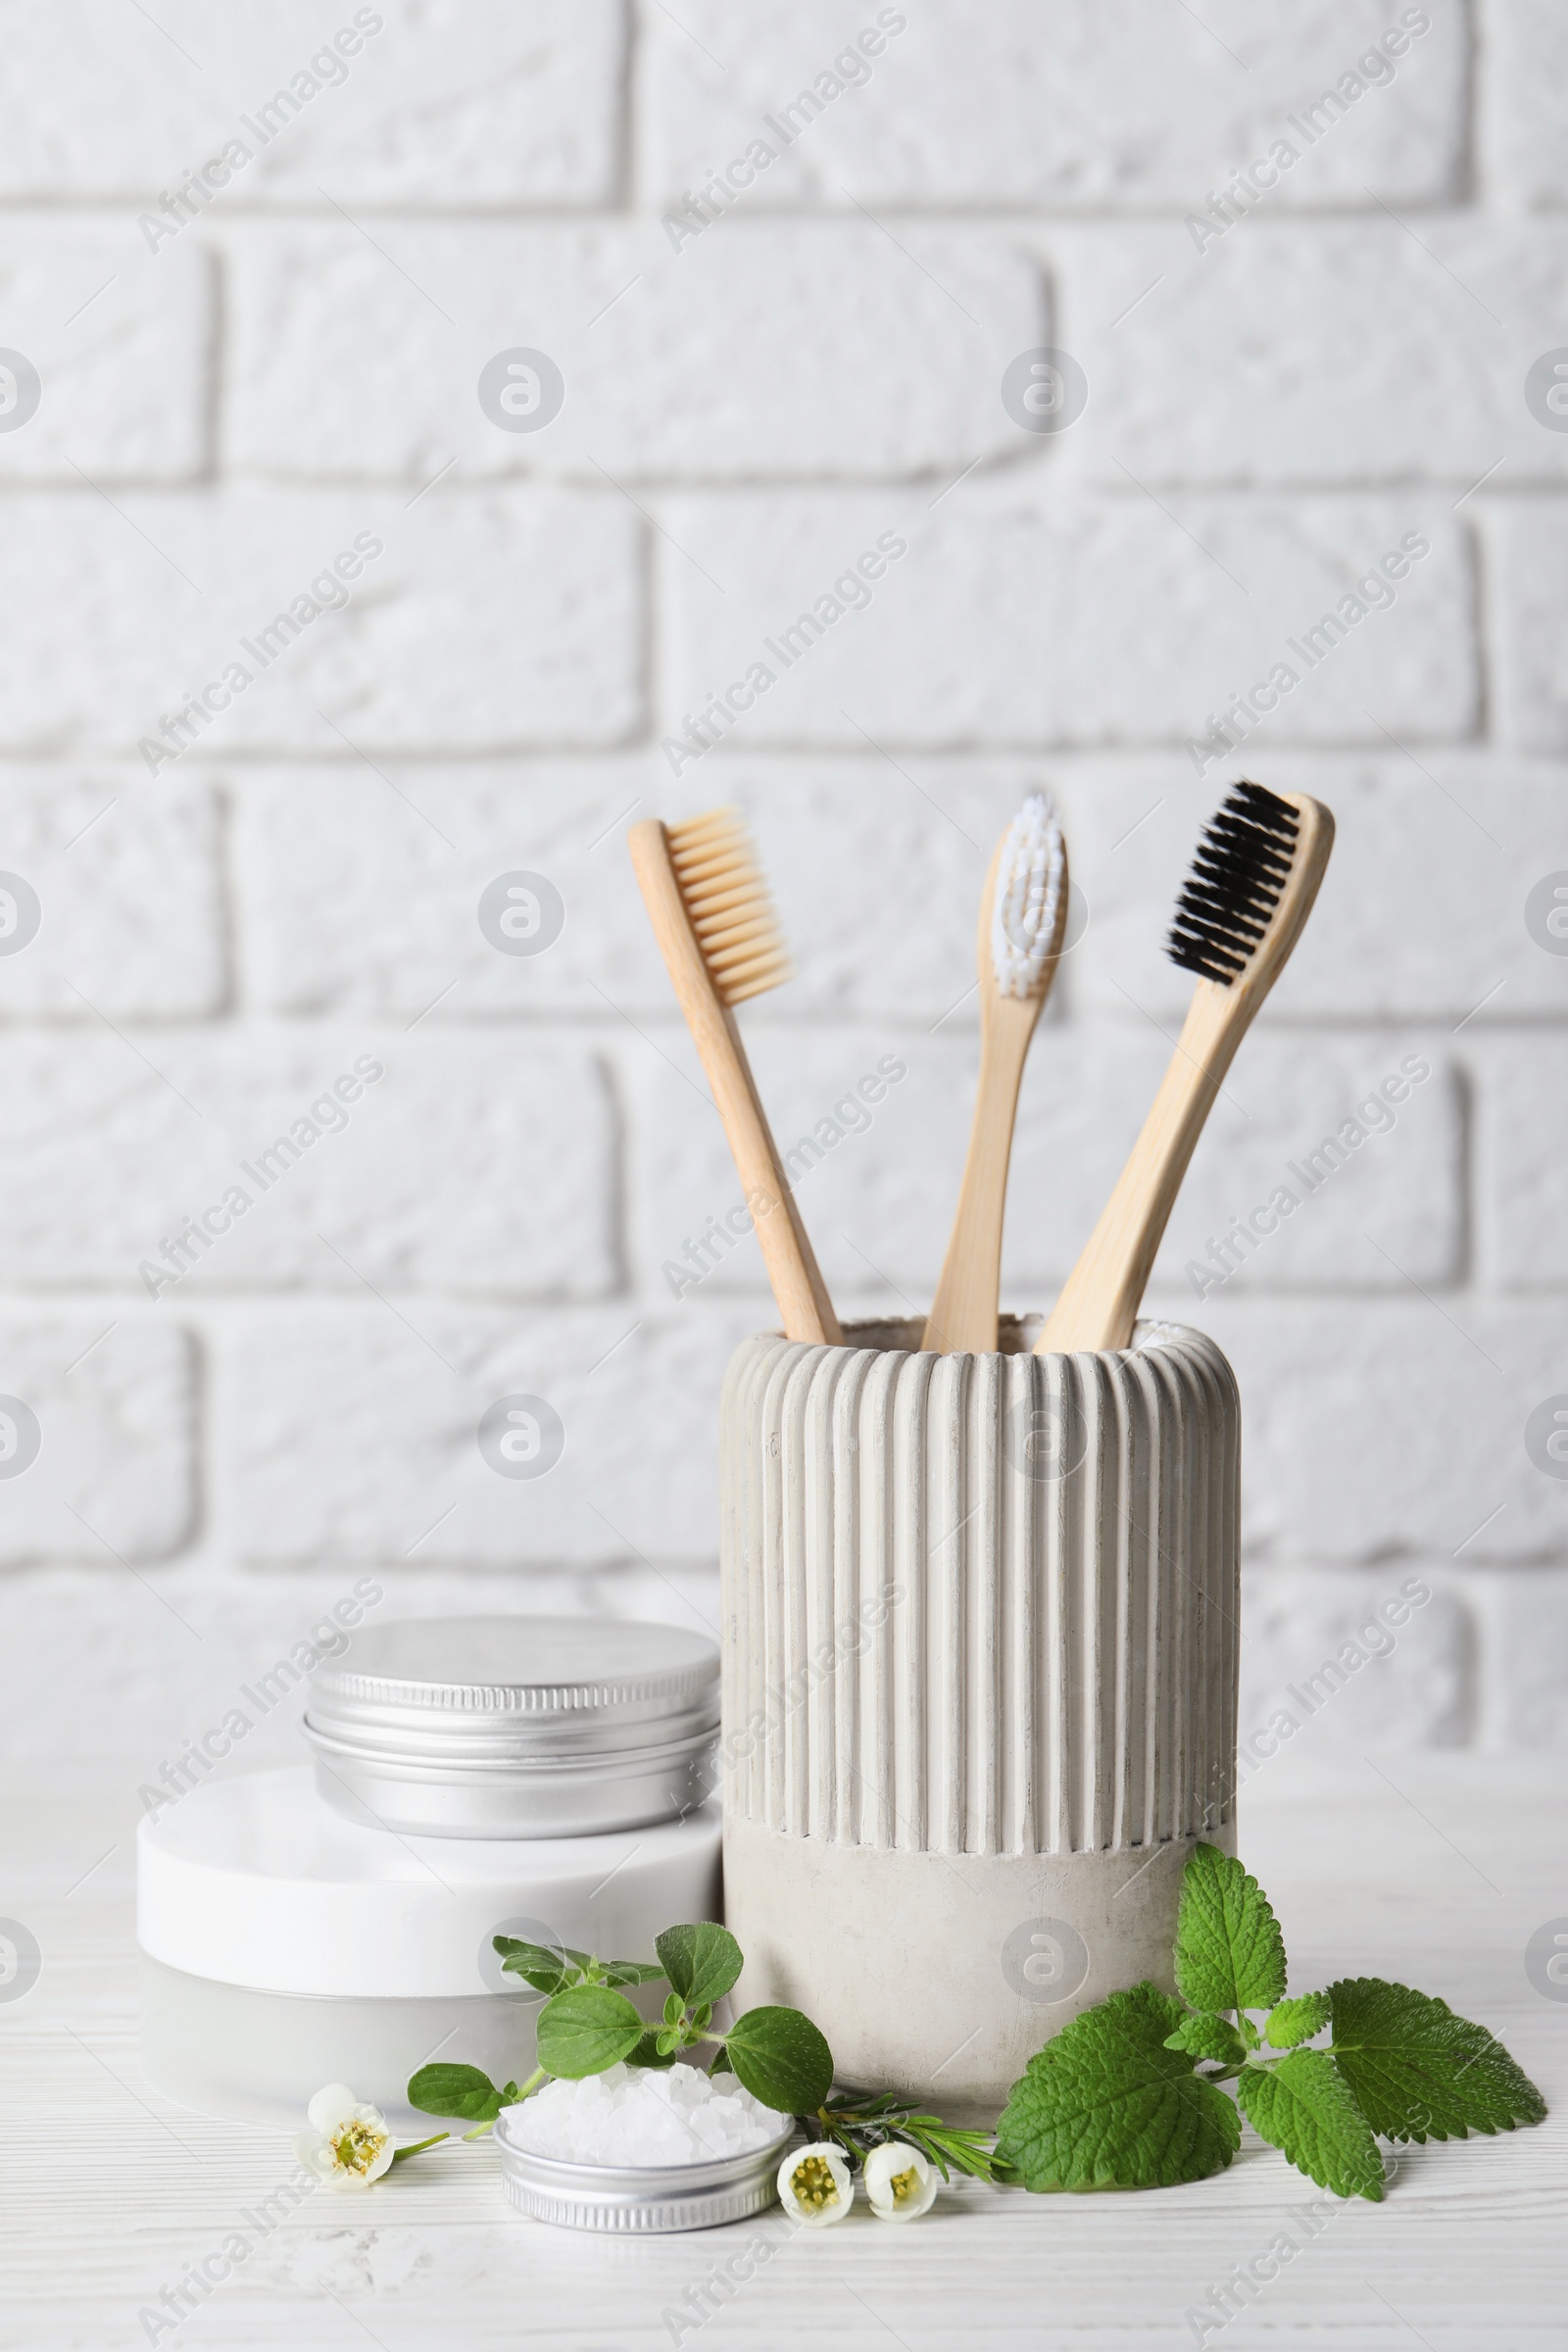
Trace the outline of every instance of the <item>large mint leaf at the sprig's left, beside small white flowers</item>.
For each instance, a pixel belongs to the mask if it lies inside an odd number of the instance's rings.
[[[1166,2034],[1182,2004],[1112,1992],[1030,2058],[997,2126],[997,2178],[1027,2190],[1154,2190],[1220,2173],[1241,2145],[1234,2105]]]

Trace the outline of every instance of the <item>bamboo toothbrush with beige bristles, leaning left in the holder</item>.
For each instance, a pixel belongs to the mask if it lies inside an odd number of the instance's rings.
[[[839,1345],[844,1334],[736,1028],[736,1004],[790,978],[790,950],[745,821],[738,809],[710,809],[684,826],[661,826],[651,816],[630,828],[628,847],[741,1169],[785,1338]]]

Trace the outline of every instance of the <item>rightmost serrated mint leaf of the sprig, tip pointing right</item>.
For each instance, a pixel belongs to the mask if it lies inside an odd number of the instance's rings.
[[[1328,1987],[1333,2056],[1385,2140],[1462,2140],[1540,2124],[1547,2103],[1486,2025],[1378,1976]]]

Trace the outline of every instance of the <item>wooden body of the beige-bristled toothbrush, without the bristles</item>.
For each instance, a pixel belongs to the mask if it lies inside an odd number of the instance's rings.
[[[722,1002],[691,934],[665,828],[654,818],[628,835],[654,938],[665,960],[686,1028],[708,1073],[724,1134],[757,1225],[762,1263],[773,1284],[785,1338],[842,1345],[839,1317],[799,1221],[766,1112],[757,1096],[736,1016]]]

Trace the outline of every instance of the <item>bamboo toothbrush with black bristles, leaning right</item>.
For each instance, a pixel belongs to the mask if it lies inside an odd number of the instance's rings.
[[[1253,1014],[1312,913],[1333,816],[1305,793],[1239,783],[1208,823],[1166,953],[1197,971],[1171,1068],[1100,1223],[1034,1341],[1037,1355],[1128,1348],[1192,1148]]]

